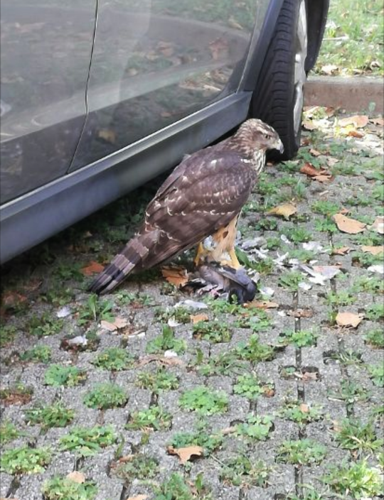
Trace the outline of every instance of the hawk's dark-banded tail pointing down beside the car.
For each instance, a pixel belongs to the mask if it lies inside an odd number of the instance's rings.
[[[112,291],[125,278],[132,273],[134,268],[143,266],[143,261],[148,256],[151,248],[156,244],[158,232],[138,234],[132,238],[127,246],[114,257],[112,262],[96,276],[90,284],[88,290],[94,293],[103,294]]]

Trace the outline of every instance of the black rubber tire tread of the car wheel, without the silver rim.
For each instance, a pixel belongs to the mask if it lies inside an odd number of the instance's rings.
[[[250,109],[253,117],[262,119],[277,131],[284,144],[284,153],[279,158],[287,160],[296,155],[300,146],[301,124],[294,124],[294,105],[297,99],[294,67],[302,1],[305,0],[284,0]],[[305,58],[303,72],[304,64]],[[302,111],[302,105],[300,108]]]

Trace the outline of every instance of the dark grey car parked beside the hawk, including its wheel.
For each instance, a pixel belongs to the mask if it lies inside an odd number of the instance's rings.
[[[3,0],[1,263],[247,117],[297,153],[329,0]]]

